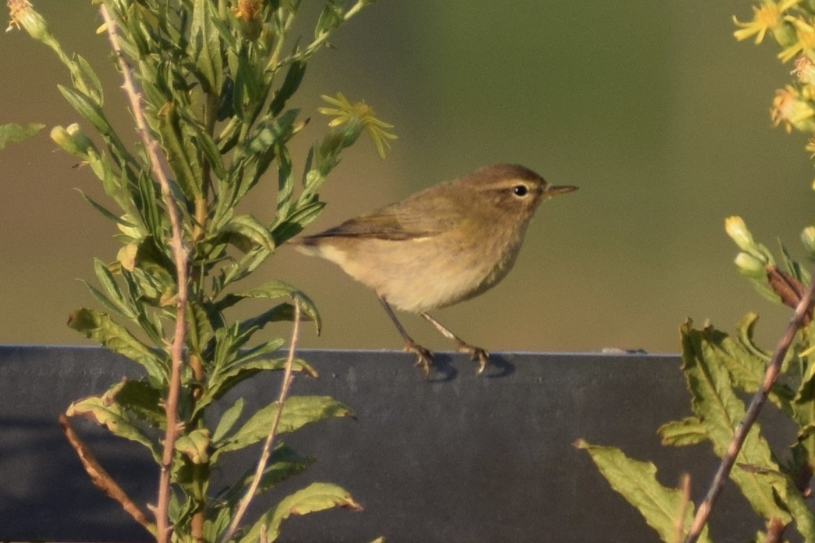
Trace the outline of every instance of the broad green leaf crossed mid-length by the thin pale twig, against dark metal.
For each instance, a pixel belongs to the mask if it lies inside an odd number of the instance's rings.
[[[277,402],[260,408],[249,420],[236,430],[225,442],[220,444],[212,454],[212,461],[229,451],[236,451],[265,439],[271,428],[272,418],[277,410]],[[290,396],[280,414],[277,433],[285,434],[305,426],[310,422],[322,421],[329,417],[350,417],[353,412],[345,404],[329,396]]]

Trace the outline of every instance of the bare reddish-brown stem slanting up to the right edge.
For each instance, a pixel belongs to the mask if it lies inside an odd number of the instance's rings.
[[[727,480],[730,475],[730,470],[733,469],[736,457],[742,449],[744,440],[747,439],[747,433],[756,422],[761,407],[764,405],[764,401],[767,400],[767,395],[773,387],[775,380],[778,378],[778,373],[781,372],[781,364],[786,356],[786,351],[790,348],[792,340],[795,338],[795,333],[798,332],[798,329],[800,329],[801,324],[803,324],[807,316],[809,306],[812,304],[813,293],[815,293],[815,277],[809,281],[804,295],[795,307],[795,312],[792,314],[789,324],[786,325],[781,339],[778,340],[778,345],[775,347],[775,352],[773,352],[773,358],[770,360],[766,372],[764,372],[764,382],[761,383],[761,388],[753,395],[750,407],[747,408],[747,413],[744,415],[742,422],[739,422],[733,439],[727,448],[727,452],[721,457],[719,469],[716,470],[716,475],[714,475],[711,486],[707,490],[707,496],[696,511],[694,523],[691,524],[688,536],[685,537],[685,543],[694,543],[694,541],[697,541],[699,535],[702,533],[702,528],[707,524],[713,503],[716,501],[716,498],[719,497],[721,489],[725,486],[725,480]]]

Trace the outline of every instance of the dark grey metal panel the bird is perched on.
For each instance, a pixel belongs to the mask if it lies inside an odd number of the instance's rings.
[[[425,382],[404,353],[301,355],[321,377],[297,377],[293,394],[332,395],[356,420],[285,435],[317,462],[264,501],[320,480],[345,487],[365,510],[289,519],[281,541],[657,541],[571,444],[622,447],[654,461],[671,486],[689,471],[694,497],[716,466],[709,447],[663,448],[655,435],[689,414],[676,356],[499,353],[476,377],[465,357],[440,355]],[[90,484],[56,422],[71,401],[123,374],[139,373],[100,348],[0,347],[0,540],[150,539]],[[237,394],[245,412],[268,404],[277,377],[243,384],[223,405]],[[156,468],[143,448],[76,426],[139,505],[155,500]],[[228,480],[253,460],[236,453],[220,476]],[[712,528],[716,541],[746,541],[761,523],[726,488]]]

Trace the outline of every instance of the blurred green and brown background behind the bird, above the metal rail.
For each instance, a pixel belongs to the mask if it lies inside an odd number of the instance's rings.
[[[108,104],[121,112],[112,117],[127,130],[94,7],[34,3],[66,49],[104,74]],[[781,239],[802,258],[815,172],[803,136],[770,126],[791,65],[775,60],[773,43],[736,42],[732,15],[749,20],[751,3],[376,2],[310,64],[296,101],[313,122],[297,138],[296,164],[324,130],[321,94],[365,99],[399,140],[385,161],[367,139],[346,152],[311,231],[518,162],[580,190],[544,204],[502,284],[436,312],[456,333],[491,351],[676,352],[686,317],[732,330],[758,311],[759,339],[772,347],[788,311],[738,276],[724,219],[740,214],[771,249]],[[94,256],[114,258],[114,227],[73,191],[98,195],[93,175],[47,137],[77,120],[55,88],[68,81],[63,66],[21,32],[0,36],[0,51],[0,123],[49,126],[0,153],[0,342],[86,342],[65,321],[95,307],[77,278],[92,278]],[[273,201],[264,188],[251,211],[269,219]],[[284,246],[257,282],[271,278],[318,304],[324,333],[305,329],[306,347],[401,347],[373,294],[333,264]],[[403,324],[428,347],[450,347],[419,318]]]

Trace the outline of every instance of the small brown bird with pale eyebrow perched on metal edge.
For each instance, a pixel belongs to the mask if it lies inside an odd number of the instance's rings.
[[[433,354],[407,334],[391,306],[419,313],[478,361],[482,373],[487,351],[464,342],[427,311],[478,296],[504,279],[540,202],[576,189],[550,185],[523,166],[496,164],[295,243],[377,293],[425,375]]]

